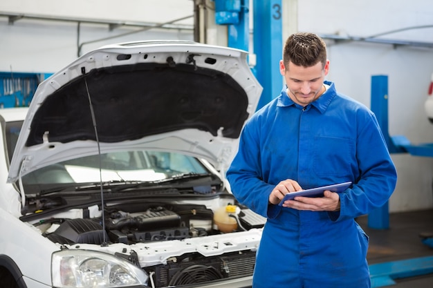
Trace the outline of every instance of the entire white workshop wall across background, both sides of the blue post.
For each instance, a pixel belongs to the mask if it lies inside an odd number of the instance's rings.
[[[412,26],[433,25],[431,0],[282,0],[286,8],[285,39],[294,30],[318,34],[368,37]],[[192,0],[2,0],[1,12],[48,17],[74,17],[116,21],[165,23],[193,15]],[[252,14],[250,15],[252,17]],[[289,19],[287,19],[289,18]],[[193,19],[178,22],[192,26]],[[296,27],[294,27],[296,26]],[[139,28],[82,24],[80,43],[112,37]],[[387,39],[433,43],[433,28],[395,32]],[[0,16],[0,71],[53,73],[77,57],[77,24],[21,19],[8,25]],[[143,39],[193,39],[191,30],[148,30],[83,46],[82,52],[104,44]],[[427,122],[423,103],[433,73],[433,48],[394,48],[385,44],[354,41],[329,42],[331,70],[341,93],[370,106],[372,75],[389,77],[389,133],[405,135],[411,142],[433,142],[433,125]],[[270,64],[278,69],[278,64]],[[390,211],[433,207],[433,159],[407,154],[393,155],[398,183],[389,201]]]

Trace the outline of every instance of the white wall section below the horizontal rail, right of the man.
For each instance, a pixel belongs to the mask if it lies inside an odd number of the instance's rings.
[[[405,135],[413,144],[432,143],[433,125],[424,101],[433,73],[433,49],[342,44],[329,49],[329,79],[340,92],[370,106],[371,75],[388,76],[389,135]],[[398,182],[390,211],[433,206],[433,158],[392,155]]]

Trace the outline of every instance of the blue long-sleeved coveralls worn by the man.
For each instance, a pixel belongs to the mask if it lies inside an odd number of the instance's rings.
[[[227,172],[239,202],[268,220],[257,251],[253,287],[370,287],[368,237],[354,218],[381,207],[396,169],[376,117],[337,93],[333,82],[305,108],[286,90],[243,128]],[[282,180],[302,189],[353,182],[340,211],[297,211],[268,204]]]

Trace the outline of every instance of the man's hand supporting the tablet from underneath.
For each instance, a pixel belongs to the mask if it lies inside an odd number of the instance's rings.
[[[324,191],[324,197],[309,198],[297,196],[294,200],[285,201],[283,207],[309,211],[339,211],[340,195],[326,190]]]

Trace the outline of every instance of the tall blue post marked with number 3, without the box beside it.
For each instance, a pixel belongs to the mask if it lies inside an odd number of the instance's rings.
[[[257,56],[256,77],[263,92],[257,109],[281,93],[283,78],[279,73],[282,59],[282,0],[253,0],[252,34],[254,53]]]

